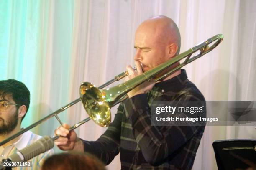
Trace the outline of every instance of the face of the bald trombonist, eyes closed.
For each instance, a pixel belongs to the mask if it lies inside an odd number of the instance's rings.
[[[134,48],[137,50],[134,60],[143,65],[144,72],[168,60],[166,41],[154,33],[154,30],[138,28]]]

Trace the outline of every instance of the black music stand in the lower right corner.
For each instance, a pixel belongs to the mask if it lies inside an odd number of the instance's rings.
[[[256,140],[218,140],[212,146],[219,170],[256,168]]]

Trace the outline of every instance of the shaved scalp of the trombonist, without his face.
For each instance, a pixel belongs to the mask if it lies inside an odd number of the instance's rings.
[[[166,16],[159,15],[148,20],[145,20],[139,25],[137,32],[145,31],[149,35],[154,36],[156,43],[163,45],[169,45],[172,43],[177,44],[178,50],[176,54],[179,54],[180,50],[180,33],[174,21]]]

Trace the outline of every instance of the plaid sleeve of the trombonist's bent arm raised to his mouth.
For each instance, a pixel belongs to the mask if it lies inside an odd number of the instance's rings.
[[[177,100],[204,101],[205,99],[200,94],[189,94],[182,95]],[[128,118],[131,120],[136,142],[145,160],[151,165],[161,164],[195,135],[201,135],[197,138],[200,142],[204,126],[151,126],[151,108],[146,94],[125,100],[124,107],[129,114]]]

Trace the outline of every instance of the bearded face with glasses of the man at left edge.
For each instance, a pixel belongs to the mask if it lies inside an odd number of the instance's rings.
[[[10,96],[5,96],[4,99],[0,96],[0,101],[15,104],[15,101]],[[17,124],[18,109],[15,105],[9,104],[5,111],[0,110],[0,135],[9,134],[15,129]]]

